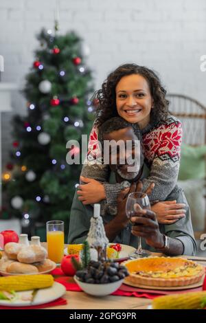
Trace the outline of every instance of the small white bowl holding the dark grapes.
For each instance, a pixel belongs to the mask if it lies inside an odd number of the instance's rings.
[[[124,279],[117,280],[117,282],[108,282],[107,284],[89,284],[88,282],[81,282],[77,276],[73,279],[81,287],[85,293],[93,296],[106,296],[116,291],[121,285]]]

